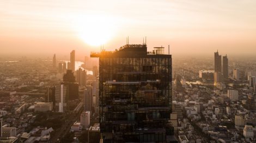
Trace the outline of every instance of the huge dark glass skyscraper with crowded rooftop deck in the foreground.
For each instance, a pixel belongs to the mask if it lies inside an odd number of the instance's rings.
[[[173,135],[172,55],[163,47],[126,44],[99,57],[100,131],[103,142],[167,142]]]

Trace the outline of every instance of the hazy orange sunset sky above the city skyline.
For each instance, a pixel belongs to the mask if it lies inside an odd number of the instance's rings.
[[[0,0],[0,55],[78,56],[130,43],[256,56],[256,1]],[[97,46],[95,46],[97,45]],[[167,51],[167,49],[166,49]]]

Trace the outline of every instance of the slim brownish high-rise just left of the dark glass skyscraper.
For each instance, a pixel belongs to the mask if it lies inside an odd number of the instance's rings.
[[[92,90],[92,86],[86,86],[86,89],[84,90],[84,111],[90,111],[91,113],[93,107]]]

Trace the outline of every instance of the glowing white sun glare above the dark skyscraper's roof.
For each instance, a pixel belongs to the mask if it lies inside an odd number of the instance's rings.
[[[111,40],[117,27],[112,17],[103,15],[83,15],[72,21],[78,37],[90,46],[100,46]]]

